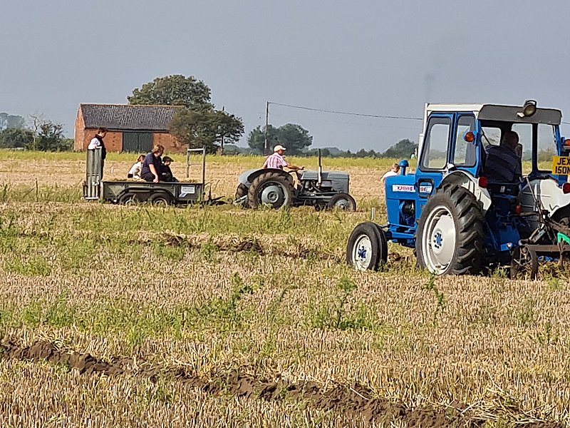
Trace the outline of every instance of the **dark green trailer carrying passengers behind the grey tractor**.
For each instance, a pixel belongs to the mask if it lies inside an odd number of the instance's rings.
[[[190,203],[220,203],[220,198],[212,199],[209,183],[205,182],[206,149],[189,148],[186,156],[186,175],[190,176],[192,153],[202,155],[202,180],[193,183],[159,182],[152,183],[137,179],[101,180],[101,151],[88,150],[86,156],[86,180],[83,183],[83,198],[103,200],[122,205],[151,203],[152,205],[188,205]],[[197,165],[198,163],[194,163]],[[206,189],[209,194],[206,196]]]

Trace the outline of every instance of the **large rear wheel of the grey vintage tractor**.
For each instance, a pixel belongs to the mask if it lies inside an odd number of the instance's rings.
[[[268,172],[258,175],[247,192],[249,207],[269,205],[281,208],[293,204],[293,183],[284,175]]]

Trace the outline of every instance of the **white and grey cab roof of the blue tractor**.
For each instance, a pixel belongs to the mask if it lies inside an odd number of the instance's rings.
[[[434,112],[470,112],[480,120],[507,121],[520,123],[547,123],[559,125],[562,113],[556,108],[537,108],[529,118],[517,116],[522,111],[522,106],[504,106],[499,104],[425,104],[425,118]]]

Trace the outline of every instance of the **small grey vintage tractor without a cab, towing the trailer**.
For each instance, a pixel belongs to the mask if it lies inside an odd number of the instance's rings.
[[[356,210],[356,201],[348,193],[348,173],[323,171],[321,153],[318,170],[288,173],[281,169],[247,170],[238,178],[234,204],[249,208],[311,205],[317,210]]]

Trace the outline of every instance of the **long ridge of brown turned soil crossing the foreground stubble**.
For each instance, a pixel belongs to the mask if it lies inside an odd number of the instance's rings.
[[[200,389],[209,394],[232,394],[235,397],[271,400],[307,400],[318,409],[330,409],[358,415],[368,422],[389,424],[398,420],[408,427],[482,427],[484,420],[470,416],[466,404],[457,404],[446,411],[435,409],[410,409],[403,404],[390,402],[388,399],[373,397],[370,389],[360,384],[343,385],[325,389],[314,382],[294,384],[281,379],[257,378],[242,370],[225,373],[212,373],[209,378],[199,377],[187,372],[183,367],[138,367],[128,357],[100,360],[90,354],[64,352],[52,343],[36,342],[29,347],[21,347],[14,342],[0,345],[0,356],[6,360],[47,361],[52,365],[68,366],[78,374],[105,374],[116,376],[131,374],[148,377],[155,382],[159,377],[172,382],[183,382],[189,387]],[[144,362],[143,364],[144,365]],[[523,424],[521,424],[523,426]],[[558,428],[563,424],[556,422],[526,422],[529,428]]]

